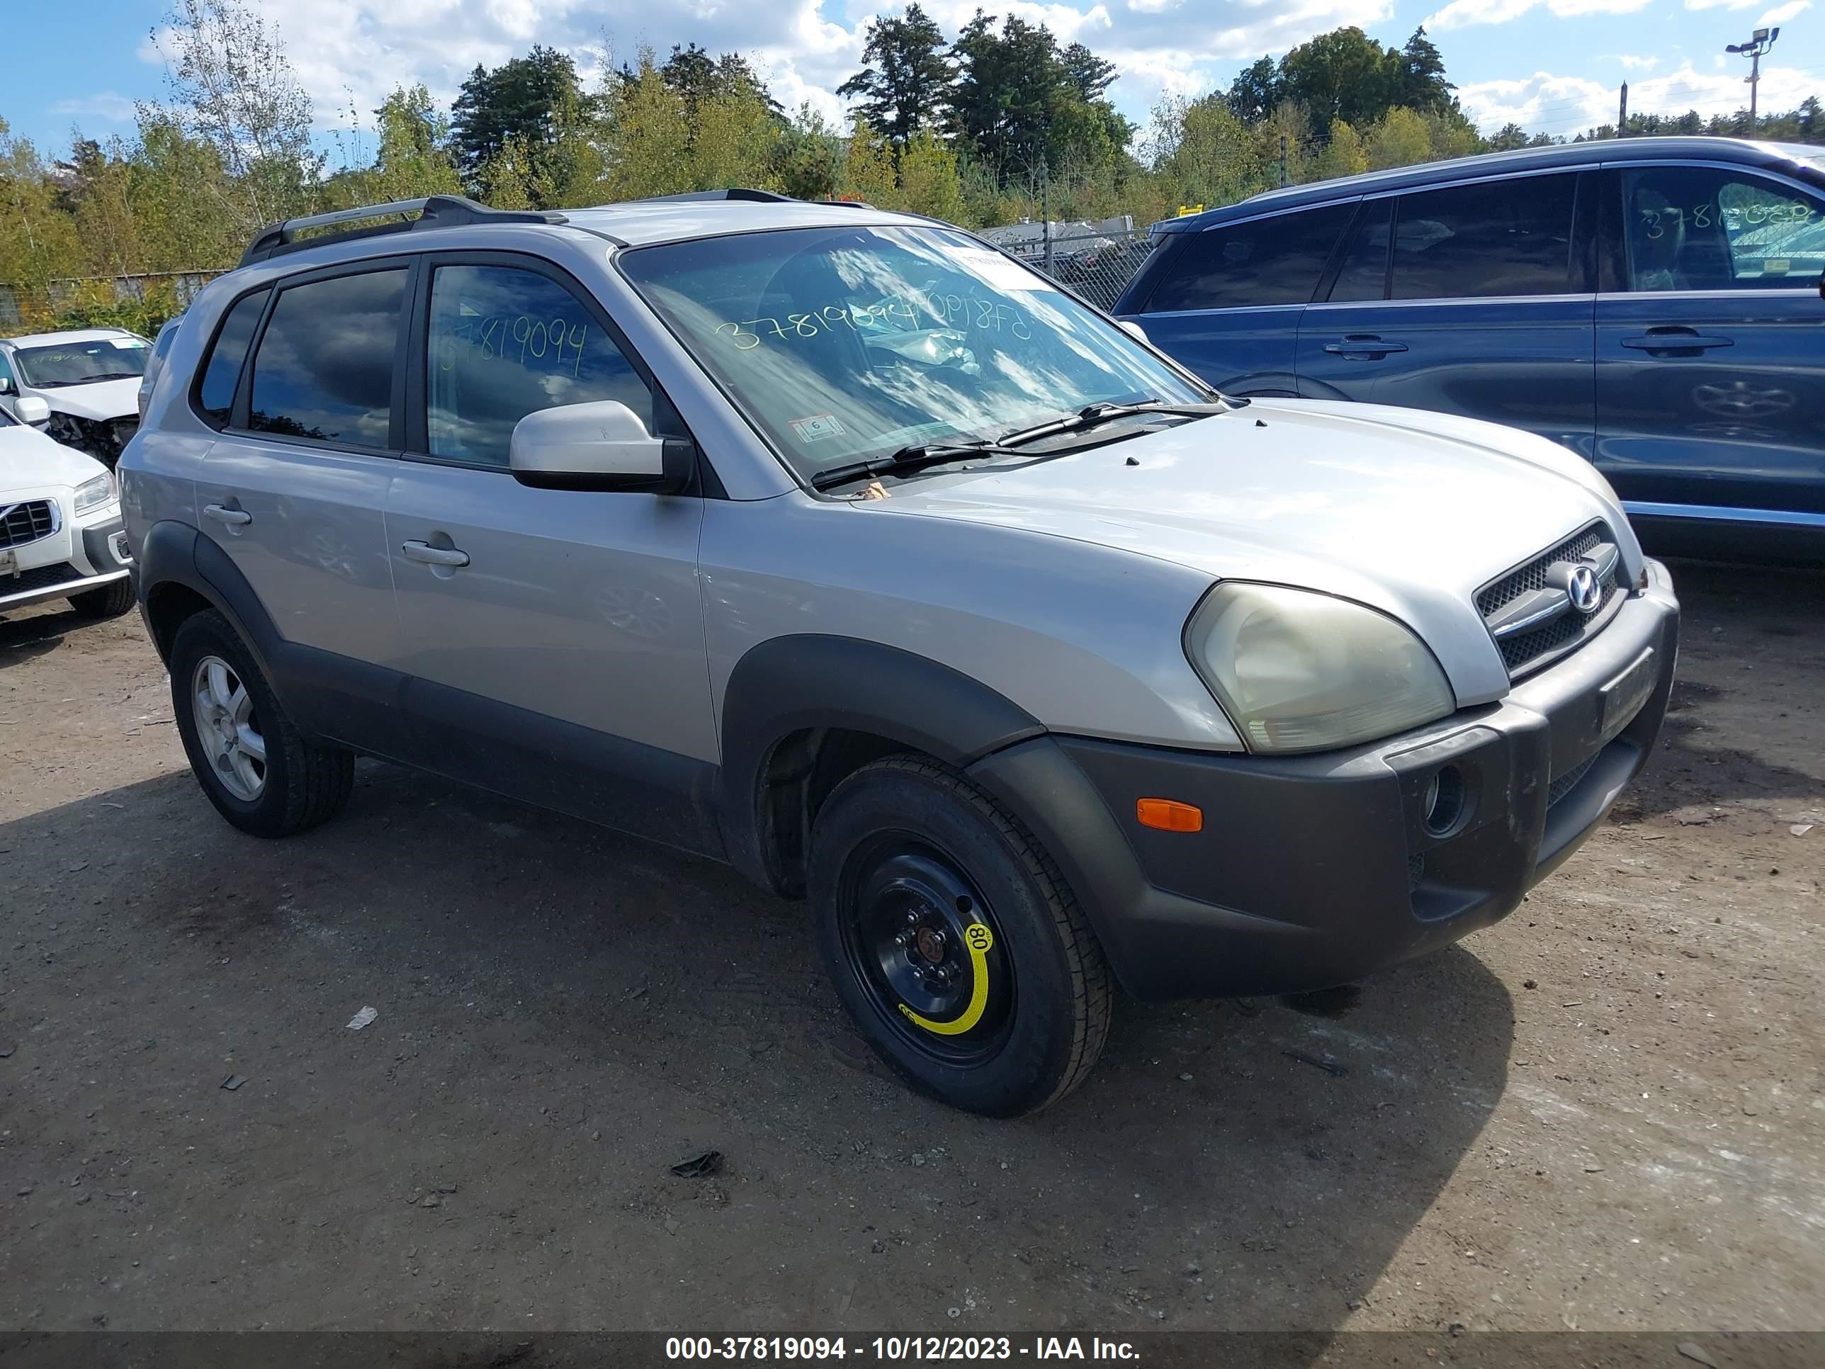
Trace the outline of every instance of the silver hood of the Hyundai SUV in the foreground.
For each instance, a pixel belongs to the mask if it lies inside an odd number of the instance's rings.
[[[1507,688],[1476,590],[1597,518],[1624,573],[1641,573],[1621,506],[1575,453],[1495,423],[1319,400],[1256,400],[1035,465],[911,480],[856,507],[1020,528],[1212,579],[1354,599],[1414,628],[1460,703]]]

